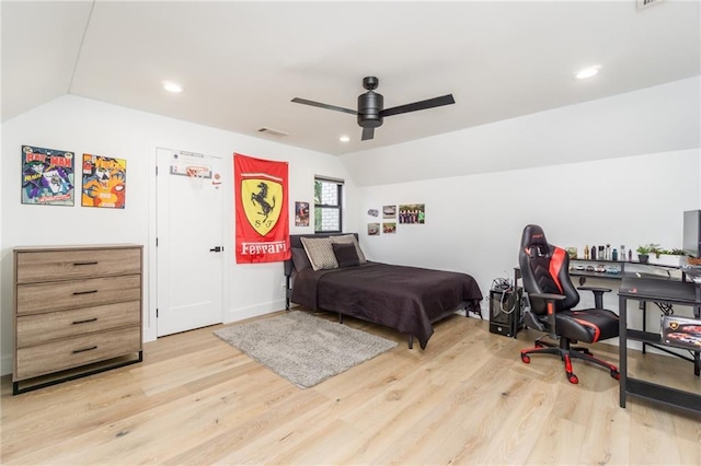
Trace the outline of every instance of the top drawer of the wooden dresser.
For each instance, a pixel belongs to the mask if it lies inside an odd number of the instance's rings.
[[[15,270],[18,283],[140,273],[141,248],[22,251]]]

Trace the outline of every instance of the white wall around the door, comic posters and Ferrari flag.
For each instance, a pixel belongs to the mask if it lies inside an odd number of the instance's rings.
[[[127,160],[127,195],[124,210],[76,206],[27,206],[20,201],[21,147],[38,145],[94,153]],[[0,349],[2,374],[12,370],[12,248],[23,245],[135,243],[145,245],[145,339],[156,338],[156,148],[185,150],[221,156],[225,205],[232,214],[225,222],[225,251],[233,252],[232,153],[289,162],[289,209],[295,201],[313,202],[313,177],[346,179],[346,209],[354,206],[353,180],[335,156],[292,148],[219,129],[136,112],[91,100],[64,96],[2,125],[0,159]],[[79,164],[77,170],[79,173]],[[80,183],[77,183],[80,187]],[[357,229],[357,215],[346,215],[348,231]],[[312,233],[313,228],[290,226],[291,233]],[[226,267],[225,322],[284,308],[283,265],[237,265],[231,254]]]

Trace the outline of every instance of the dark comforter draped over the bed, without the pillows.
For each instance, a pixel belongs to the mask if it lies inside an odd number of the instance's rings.
[[[461,305],[478,311],[482,292],[467,273],[367,263],[296,272],[291,301],[413,335],[425,349],[432,324]]]

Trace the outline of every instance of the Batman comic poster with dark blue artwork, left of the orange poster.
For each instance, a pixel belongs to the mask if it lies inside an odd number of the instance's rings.
[[[22,203],[73,206],[73,155],[22,145]]]

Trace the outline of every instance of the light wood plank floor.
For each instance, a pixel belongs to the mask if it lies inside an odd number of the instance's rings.
[[[335,319],[333,315],[324,318]],[[262,317],[265,318],[265,317]],[[146,345],[145,362],[19,396],[2,378],[3,464],[632,464],[699,465],[701,419],[660,405],[619,407],[608,371],[550,356],[524,364],[518,340],[463,316],[425,351],[399,347],[300,389],[208,327]],[[617,347],[595,354],[618,361]],[[691,364],[634,352],[636,375],[701,393]],[[643,371],[646,373],[643,374]]]

